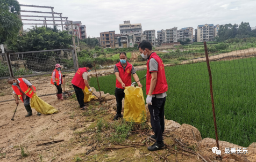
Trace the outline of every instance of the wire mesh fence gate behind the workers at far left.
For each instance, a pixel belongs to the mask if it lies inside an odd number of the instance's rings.
[[[29,80],[37,88],[39,96],[56,94],[56,87],[50,83],[55,64],[60,64],[62,75],[66,75],[65,90],[73,90],[73,87],[67,83],[72,80],[72,73],[75,72],[76,67],[73,49],[8,54],[0,54],[0,102],[13,99],[12,87],[6,82],[11,75]],[[11,68],[8,68],[9,66]]]

